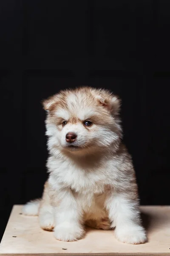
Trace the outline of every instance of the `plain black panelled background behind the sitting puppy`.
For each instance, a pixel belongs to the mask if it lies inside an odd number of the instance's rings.
[[[47,178],[41,99],[77,85],[122,98],[141,204],[170,204],[170,1],[1,0],[1,234]]]

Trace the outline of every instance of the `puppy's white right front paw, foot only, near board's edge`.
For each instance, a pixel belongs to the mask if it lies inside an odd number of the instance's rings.
[[[116,238],[126,244],[144,244],[147,236],[141,226],[118,227],[115,230]]]

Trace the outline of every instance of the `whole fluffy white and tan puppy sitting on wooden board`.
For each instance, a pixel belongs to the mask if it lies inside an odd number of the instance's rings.
[[[141,224],[133,163],[121,142],[120,101],[107,90],[63,90],[43,102],[47,111],[49,177],[42,199],[23,207],[60,241],[75,241],[85,224],[115,229],[128,244],[147,241]]]

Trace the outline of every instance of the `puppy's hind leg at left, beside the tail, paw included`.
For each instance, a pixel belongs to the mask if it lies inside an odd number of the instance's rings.
[[[54,228],[54,208],[50,204],[49,184],[45,182],[42,201],[39,209],[40,227],[44,230],[53,230]]]

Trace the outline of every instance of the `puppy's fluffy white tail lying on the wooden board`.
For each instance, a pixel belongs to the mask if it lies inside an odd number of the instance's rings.
[[[35,199],[23,206],[22,213],[24,215],[37,216],[39,212],[41,199]]]

